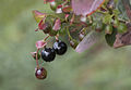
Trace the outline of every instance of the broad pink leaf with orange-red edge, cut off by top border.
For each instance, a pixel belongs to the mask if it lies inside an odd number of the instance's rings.
[[[88,15],[95,12],[105,0],[72,0],[72,9],[76,15]]]

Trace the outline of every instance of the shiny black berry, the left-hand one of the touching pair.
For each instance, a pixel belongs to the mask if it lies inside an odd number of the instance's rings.
[[[46,62],[51,62],[53,61],[56,57],[56,52],[53,49],[51,48],[45,48],[43,51],[41,51],[41,59]]]

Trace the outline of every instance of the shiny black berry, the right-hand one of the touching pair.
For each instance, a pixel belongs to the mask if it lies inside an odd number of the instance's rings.
[[[67,44],[63,41],[56,41],[52,47],[57,54],[62,55],[67,52]]]

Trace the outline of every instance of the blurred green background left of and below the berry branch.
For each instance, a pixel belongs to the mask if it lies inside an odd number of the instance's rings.
[[[105,40],[82,54],[69,47],[43,64],[47,79],[36,79],[29,52],[44,35],[34,31],[32,10],[50,12],[43,0],[0,0],[0,90],[131,90],[131,47],[116,50]]]

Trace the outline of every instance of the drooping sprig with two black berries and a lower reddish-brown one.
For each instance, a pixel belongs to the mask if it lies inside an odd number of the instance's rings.
[[[37,67],[36,67],[36,72],[35,72],[35,76],[38,79],[45,79],[47,77],[47,70],[44,67],[39,67],[38,65],[38,60],[41,57],[45,62],[52,62],[56,57],[56,54],[58,55],[63,55],[67,52],[68,46],[60,40],[57,40],[52,48],[46,48],[46,46],[38,51],[40,51],[40,53],[35,52],[32,53],[33,57],[36,60],[37,62]]]

